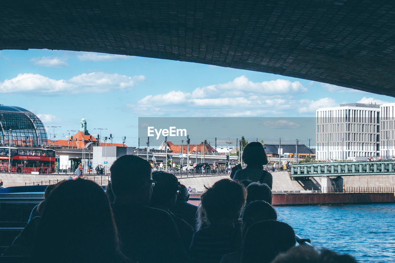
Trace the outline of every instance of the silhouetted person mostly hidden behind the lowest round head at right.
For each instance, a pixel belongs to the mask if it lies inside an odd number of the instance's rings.
[[[277,220],[277,213],[274,207],[265,201],[254,201],[246,205],[241,219],[241,236],[244,239],[248,227],[263,221]],[[240,263],[241,250],[224,255],[221,263]]]

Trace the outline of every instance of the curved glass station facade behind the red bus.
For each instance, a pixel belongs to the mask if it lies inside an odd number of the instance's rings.
[[[10,141],[11,147],[41,147],[47,144],[47,131],[34,113],[0,105],[0,146],[9,146]]]

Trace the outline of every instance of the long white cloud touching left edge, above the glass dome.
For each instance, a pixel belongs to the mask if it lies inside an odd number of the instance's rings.
[[[83,73],[69,80],[55,80],[39,74],[24,73],[0,82],[0,93],[34,92],[50,95],[66,91],[71,93],[108,92],[129,89],[144,80],[143,75],[127,77],[103,72]]]

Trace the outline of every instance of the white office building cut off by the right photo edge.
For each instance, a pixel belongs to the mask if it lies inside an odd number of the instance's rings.
[[[380,156],[384,159],[395,156],[394,108],[395,103],[385,103],[380,106]]]

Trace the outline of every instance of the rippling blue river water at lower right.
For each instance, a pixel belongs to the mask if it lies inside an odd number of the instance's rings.
[[[395,204],[275,207],[317,248],[350,254],[358,262],[395,262]]]

